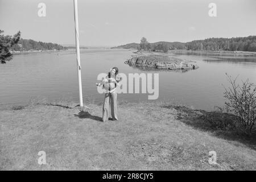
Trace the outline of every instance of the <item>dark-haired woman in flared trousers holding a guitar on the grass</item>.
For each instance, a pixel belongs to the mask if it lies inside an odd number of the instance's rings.
[[[118,68],[114,67],[110,69],[108,75],[100,82],[96,83],[97,86],[103,85],[105,89],[104,104],[102,107],[102,121],[108,121],[109,106],[111,106],[112,120],[117,120],[117,91],[118,82],[122,78],[117,76]]]

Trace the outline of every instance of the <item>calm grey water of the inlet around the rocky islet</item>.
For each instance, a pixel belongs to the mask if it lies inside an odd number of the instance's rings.
[[[59,53],[59,55],[58,55]],[[98,73],[118,67],[121,73],[159,73],[160,101],[213,110],[223,106],[222,86],[228,86],[225,73],[238,81],[250,78],[256,84],[256,57],[175,55],[194,60],[199,69],[187,72],[142,71],[123,62],[132,55],[126,49],[85,49],[81,51],[82,91],[85,104],[101,102],[95,82]],[[148,94],[119,94],[119,100],[144,101]],[[0,65],[0,107],[24,105],[34,97],[73,100],[79,103],[76,55],[72,51],[14,55]]]

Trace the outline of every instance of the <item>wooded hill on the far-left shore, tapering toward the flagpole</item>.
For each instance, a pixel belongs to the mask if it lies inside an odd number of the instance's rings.
[[[34,50],[65,50],[67,47],[61,46],[56,43],[45,43],[45,42],[37,42],[31,39],[20,39],[18,44],[11,47],[13,51],[34,51]]]

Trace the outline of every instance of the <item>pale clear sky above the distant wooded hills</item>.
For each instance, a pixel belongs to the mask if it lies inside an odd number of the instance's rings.
[[[256,0],[77,0],[81,46],[189,42],[256,35]],[[46,16],[38,16],[39,3]],[[209,3],[217,16],[210,17]],[[0,29],[23,39],[75,44],[73,0],[0,0]]]

